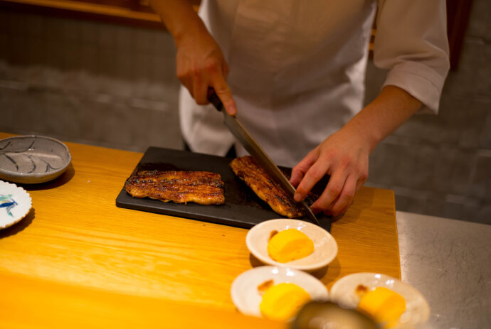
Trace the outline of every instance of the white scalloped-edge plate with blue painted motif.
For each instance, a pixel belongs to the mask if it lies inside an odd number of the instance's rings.
[[[31,207],[31,196],[26,190],[0,180],[0,230],[22,220]]]

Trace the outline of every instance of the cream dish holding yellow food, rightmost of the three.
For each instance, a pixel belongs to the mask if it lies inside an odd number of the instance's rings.
[[[356,308],[360,301],[355,289],[359,285],[366,286],[369,290],[376,287],[389,288],[403,296],[406,300],[406,311],[399,318],[396,327],[425,323],[430,316],[430,306],[416,288],[385,274],[355,273],[342,277],[331,288],[331,300],[347,308]]]

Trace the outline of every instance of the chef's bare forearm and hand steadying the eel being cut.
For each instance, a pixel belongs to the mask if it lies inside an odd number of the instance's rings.
[[[329,182],[311,209],[326,215],[345,212],[368,176],[371,151],[418,112],[422,104],[406,90],[385,86],[379,96],[342,129],[327,137],[293,168],[290,183],[297,187],[295,200],[304,199],[315,183],[327,174]]]

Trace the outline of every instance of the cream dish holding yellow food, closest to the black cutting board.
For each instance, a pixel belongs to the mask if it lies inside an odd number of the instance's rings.
[[[302,231],[314,242],[314,252],[297,259],[280,263],[274,261],[268,254],[268,242],[273,231],[283,231],[287,229],[297,229]],[[300,269],[302,271],[314,271],[327,266],[337,255],[337,243],[329,232],[317,225],[302,220],[266,220],[251,228],[245,237],[245,244],[251,254],[264,264],[274,266],[286,266],[290,269]]]

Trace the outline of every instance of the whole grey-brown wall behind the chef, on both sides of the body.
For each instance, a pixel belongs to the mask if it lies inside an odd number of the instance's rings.
[[[438,116],[377,146],[366,185],[397,210],[491,224],[491,3],[475,0]],[[181,149],[168,33],[0,11],[0,131],[144,151]],[[370,63],[366,100],[385,73]]]

